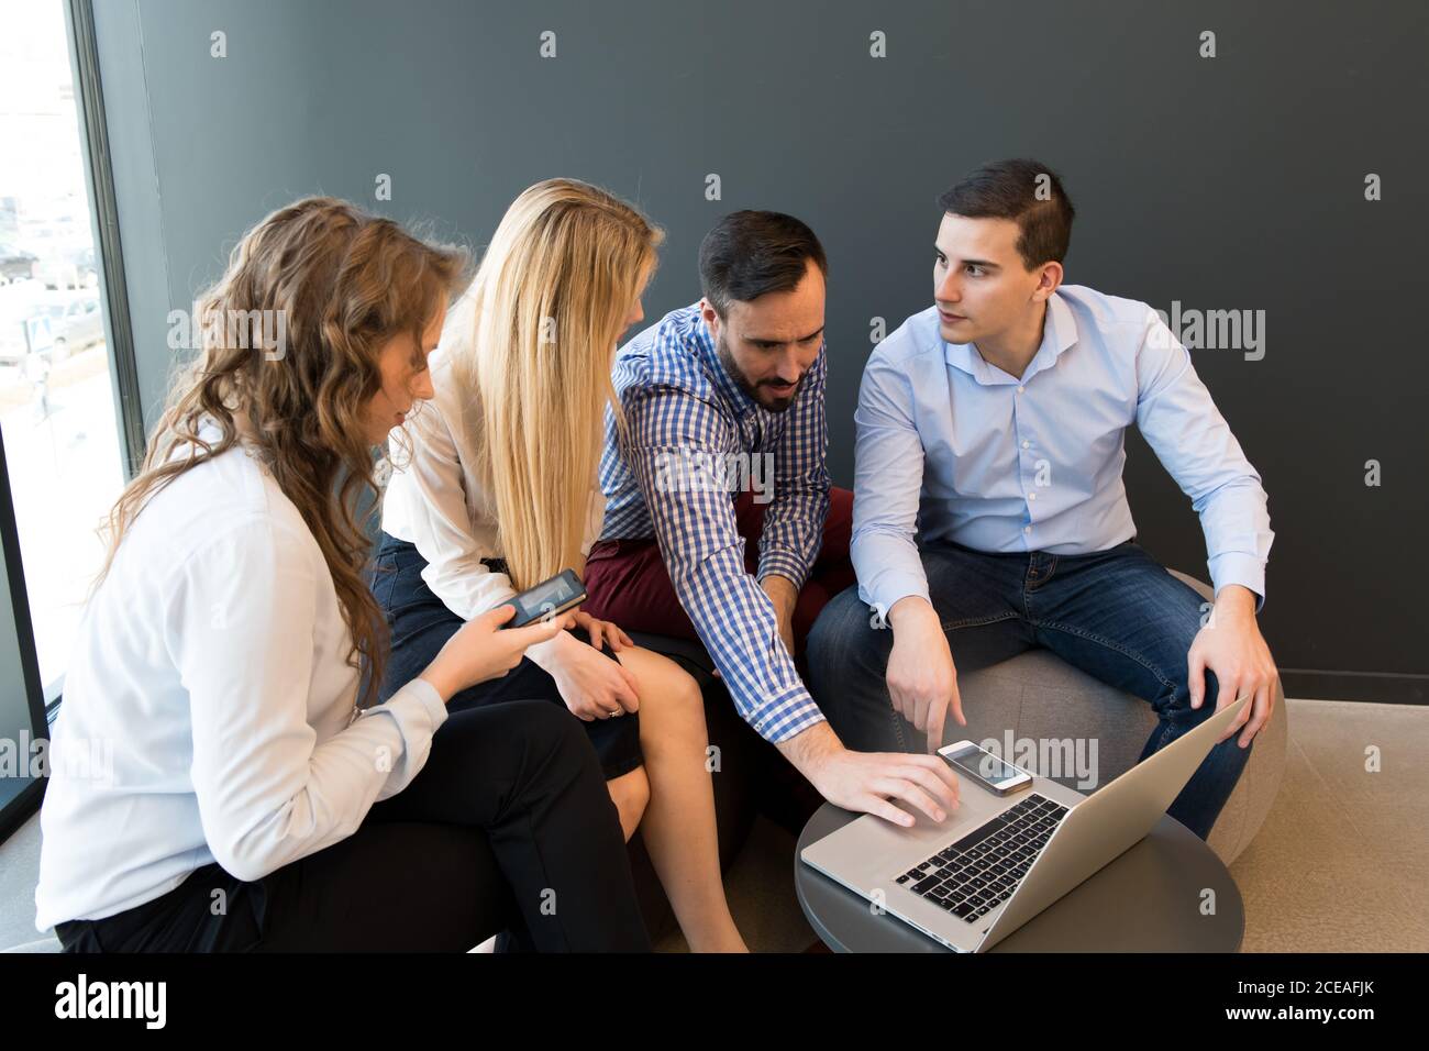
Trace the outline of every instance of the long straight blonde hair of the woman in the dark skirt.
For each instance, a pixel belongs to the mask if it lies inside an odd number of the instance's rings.
[[[639,282],[664,232],[619,197],[549,179],[506,210],[460,309],[452,380],[476,406],[477,478],[489,486],[513,585],[583,568],[582,541],[610,369]]]

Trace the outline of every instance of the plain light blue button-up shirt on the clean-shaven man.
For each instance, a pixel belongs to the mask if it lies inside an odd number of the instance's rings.
[[[1275,533],[1260,476],[1146,303],[1063,285],[1022,379],[945,342],[929,307],[873,350],[855,419],[853,566],[885,615],[927,598],[920,543],[1087,555],[1133,538],[1132,423],[1200,516],[1216,591],[1265,602]]]

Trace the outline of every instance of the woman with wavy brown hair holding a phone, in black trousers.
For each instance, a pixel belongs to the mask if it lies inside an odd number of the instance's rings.
[[[374,446],[432,395],[464,263],[310,197],[204,296],[204,349],[110,516],[54,726],[36,925],[67,951],[467,951],[503,928],[647,948],[584,735],[543,701],[444,704],[559,625],[489,613],[359,711],[386,625],[357,508]],[[229,337],[264,312],[282,346]],[[61,758],[100,741],[103,776]]]

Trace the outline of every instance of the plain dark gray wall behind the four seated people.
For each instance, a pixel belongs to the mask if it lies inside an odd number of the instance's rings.
[[[1290,692],[1425,699],[1423,4],[97,7],[150,419],[167,310],[267,210],[324,192],[480,245],[516,193],[562,174],[667,229],[652,317],[699,296],[696,247],[725,212],[815,227],[833,267],[830,463],[850,483],[870,317],[892,330],[929,305],[935,197],[979,162],[1030,154],[1077,204],[1069,282],[1266,312],[1262,360],[1195,353],[1270,493],[1262,622],[1285,668],[1368,673],[1289,675]],[[539,56],[543,30],[556,59]],[[875,30],[886,59],[869,56]],[[1202,30],[1218,57],[1199,57]],[[1370,172],[1380,202],[1363,199]],[[373,200],[377,173],[392,202]],[[1205,576],[1186,499],[1129,445],[1140,541]]]

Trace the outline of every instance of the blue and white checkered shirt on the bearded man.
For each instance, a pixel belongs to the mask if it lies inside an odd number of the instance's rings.
[[[745,572],[745,541],[735,525],[737,493],[672,468],[772,455],[773,496],[759,541],[759,581],[777,573],[802,588],[829,510],[826,349],[819,347],[795,403],[773,413],[720,365],[699,305],[672,310],[616,355],[614,386],[629,446],[620,449],[614,416],[607,415],[600,458],[607,500],[600,538],[657,541],[674,593],[739,714],[772,742],[822,722],[823,714],[779,636],[773,602]]]

